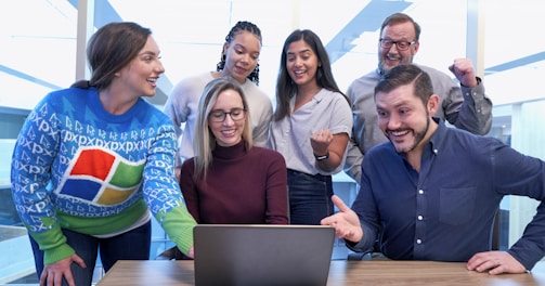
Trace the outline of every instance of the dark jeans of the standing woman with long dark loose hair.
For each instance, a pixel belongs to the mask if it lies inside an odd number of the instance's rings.
[[[291,224],[320,224],[333,214],[333,183],[330,176],[308,174],[287,170],[289,218]]]

